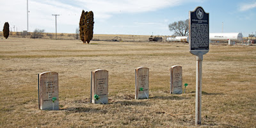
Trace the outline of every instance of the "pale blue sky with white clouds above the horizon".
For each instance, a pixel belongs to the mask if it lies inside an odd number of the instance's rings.
[[[27,30],[27,1],[0,0],[0,26],[9,22],[15,31]],[[82,10],[93,11],[94,33],[115,35],[172,35],[168,24],[189,18],[202,6],[209,13],[210,33],[256,32],[256,0],[28,0],[29,31],[45,29],[75,33]],[[3,29],[1,29],[2,31]]]

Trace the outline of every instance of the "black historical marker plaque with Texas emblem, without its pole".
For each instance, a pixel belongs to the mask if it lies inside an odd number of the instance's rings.
[[[189,12],[189,52],[197,55],[209,51],[209,13],[198,6]]]

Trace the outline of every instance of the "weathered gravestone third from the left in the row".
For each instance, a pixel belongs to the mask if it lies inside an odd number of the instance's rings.
[[[135,99],[148,99],[149,68],[135,69]]]

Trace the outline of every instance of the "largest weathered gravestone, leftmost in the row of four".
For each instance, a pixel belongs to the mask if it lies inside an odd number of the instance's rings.
[[[59,109],[59,82],[57,72],[38,74],[38,103],[39,109]]]

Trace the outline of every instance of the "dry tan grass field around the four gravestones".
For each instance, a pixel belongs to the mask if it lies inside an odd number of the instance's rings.
[[[2,36],[3,37],[3,36]],[[195,127],[196,56],[188,44],[0,39],[0,127]],[[256,127],[256,47],[210,45],[202,125]],[[186,93],[170,94],[173,65]],[[134,99],[137,67],[150,68],[149,99]],[[90,104],[92,70],[109,71],[109,104]],[[38,109],[37,74],[59,73],[60,110]]]

